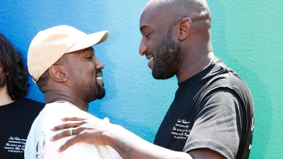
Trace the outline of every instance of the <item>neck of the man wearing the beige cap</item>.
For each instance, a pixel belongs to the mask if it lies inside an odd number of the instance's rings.
[[[82,100],[75,93],[66,91],[58,91],[58,90],[49,90],[44,92],[45,103],[52,103],[59,100],[65,100],[70,103],[73,103],[79,109],[87,112],[88,111],[88,103]]]

